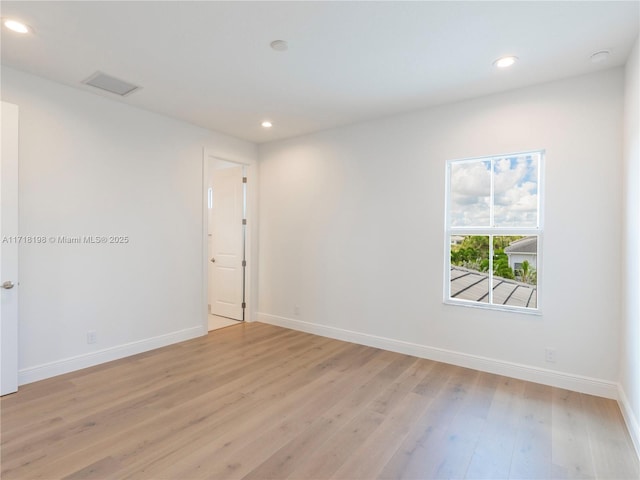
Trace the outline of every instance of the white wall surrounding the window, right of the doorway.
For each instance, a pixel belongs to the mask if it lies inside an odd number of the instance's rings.
[[[615,396],[622,93],[613,69],[261,145],[258,319]],[[445,162],[533,149],[543,314],[444,305]]]

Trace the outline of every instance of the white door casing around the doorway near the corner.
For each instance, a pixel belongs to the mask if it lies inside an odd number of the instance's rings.
[[[244,312],[244,321],[252,322],[255,318],[256,312],[256,289],[254,287],[254,282],[257,279],[256,267],[257,267],[257,252],[255,252],[255,248],[257,246],[254,241],[254,232],[257,232],[257,224],[256,224],[256,211],[257,211],[257,168],[256,165],[250,162],[235,160],[227,157],[223,157],[211,151],[210,149],[204,148],[202,155],[202,326],[204,334],[207,334],[209,331],[209,252],[208,252],[208,179],[209,179],[209,161],[210,160],[223,160],[225,162],[235,163],[238,166],[245,167],[246,177],[247,177],[247,211],[246,211],[246,219],[247,225],[245,230],[245,259],[247,261],[247,266],[245,268],[245,277],[244,277],[244,291],[245,291],[245,302],[247,303],[247,307]]]

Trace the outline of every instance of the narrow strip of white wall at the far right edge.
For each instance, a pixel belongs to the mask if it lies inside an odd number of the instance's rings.
[[[636,40],[625,75],[624,237],[621,375],[623,413],[640,455],[640,47]]]

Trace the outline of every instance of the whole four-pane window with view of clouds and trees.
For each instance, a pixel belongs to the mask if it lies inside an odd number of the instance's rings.
[[[540,311],[544,152],[447,162],[445,302]]]

